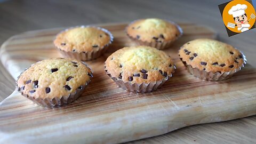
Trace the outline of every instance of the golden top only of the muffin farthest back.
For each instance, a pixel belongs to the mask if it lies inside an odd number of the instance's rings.
[[[173,41],[181,35],[174,23],[162,19],[134,21],[126,28],[126,33],[143,42]]]

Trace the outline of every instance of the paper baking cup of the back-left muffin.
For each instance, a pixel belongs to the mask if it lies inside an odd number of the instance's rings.
[[[94,26],[77,26],[77,27],[82,27],[82,28],[86,28],[86,27],[94,27]],[[77,28],[77,27],[71,27],[71,28],[68,28],[68,29],[65,29],[63,31],[61,31],[60,33],[63,33],[64,31],[68,31],[69,29],[73,29],[73,28]],[[108,49],[108,46],[113,42],[114,40],[114,37],[113,35],[110,33],[110,31],[108,31],[107,29],[104,29],[104,28],[100,28],[100,27],[94,27],[94,28],[97,28],[99,30],[102,30],[104,31],[105,33],[107,33],[110,37],[110,41],[108,44],[106,44],[105,46],[103,47],[100,47],[99,49],[97,50],[94,50],[94,51],[89,51],[89,52],[81,52],[81,53],[78,53],[78,52],[73,52],[73,51],[63,51],[61,50],[59,47],[57,47],[57,49],[59,50],[59,52],[63,55],[63,57],[66,57],[66,58],[74,58],[74,59],[77,59],[79,61],[89,61],[89,60],[94,60],[94,59],[97,59],[99,58],[107,49]],[[59,33],[59,34],[60,34]],[[59,35],[57,34],[57,36]]]

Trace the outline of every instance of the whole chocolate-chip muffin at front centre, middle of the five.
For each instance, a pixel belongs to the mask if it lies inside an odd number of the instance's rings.
[[[107,74],[119,87],[132,92],[151,92],[162,86],[174,73],[172,59],[154,47],[124,47],[105,62]]]

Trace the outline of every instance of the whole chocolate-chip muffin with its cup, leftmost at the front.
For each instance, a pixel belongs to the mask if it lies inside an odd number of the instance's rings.
[[[36,62],[17,80],[18,91],[40,106],[56,107],[76,100],[89,84],[92,71],[75,59]]]

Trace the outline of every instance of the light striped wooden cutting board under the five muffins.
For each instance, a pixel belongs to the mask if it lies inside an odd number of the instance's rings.
[[[87,62],[94,77],[71,105],[44,108],[14,91],[0,103],[0,143],[120,143],[171,132],[181,127],[227,121],[256,114],[256,69],[249,64],[223,82],[190,75],[178,57],[179,47],[195,38],[215,38],[213,30],[179,23],[184,35],[170,49],[177,70],[161,89],[146,94],[124,91],[106,75],[103,62],[124,46],[134,45],[126,24],[100,25],[115,39],[101,58]],[[62,28],[36,30],[8,39],[1,61],[16,79],[36,61],[61,57],[53,39]]]

